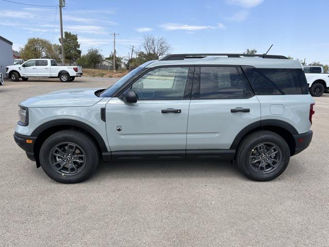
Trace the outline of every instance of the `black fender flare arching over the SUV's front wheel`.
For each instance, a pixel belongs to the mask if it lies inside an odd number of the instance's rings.
[[[101,152],[108,152],[104,139],[93,127],[87,125],[87,123],[84,123],[84,122],[81,122],[78,120],[74,120],[74,119],[50,120],[50,121],[45,122],[42,125],[38,126],[31,133],[31,136],[39,136],[45,130],[50,129],[52,127],[56,127],[56,126],[71,126],[71,127],[77,127],[77,128],[83,129],[83,130],[89,132],[97,140],[97,144],[100,146]]]

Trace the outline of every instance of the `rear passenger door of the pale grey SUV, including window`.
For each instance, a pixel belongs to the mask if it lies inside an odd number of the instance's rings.
[[[187,151],[230,149],[235,136],[260,119],[260,102],[241,67],[195,67]]]

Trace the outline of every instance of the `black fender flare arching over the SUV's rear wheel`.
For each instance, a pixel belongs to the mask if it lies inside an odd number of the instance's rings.
[[[245,135],[255,129],[258,129],[260,127],[265,127],[265,126],[275,126],[275,127],[280,127],[282,129],[287,130],[288,132],[291,133],[291,135],[297,135],[298,131],[296,130],[296,128],[292,125],[290,125],[290,123],[285,122],[283,120],[278,120],[278,119],[264,119],[264,120],[259,120],[259,121],[255,121],[250,123],[250,125],[247,125],[245,128],[243,128],[234,138],[232,145],[230,147],[230,149],[236,149],[241,140],[243,139],[243,137],[245,137]]]

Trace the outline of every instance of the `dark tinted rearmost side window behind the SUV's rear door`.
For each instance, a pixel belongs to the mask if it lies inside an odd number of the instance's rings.
[[[302,94],[297,69],[242,67],[257,95]]]

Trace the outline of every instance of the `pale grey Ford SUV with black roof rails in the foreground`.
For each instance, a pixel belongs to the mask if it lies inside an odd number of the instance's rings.
[[[107,89],[61,90],[23,101],[14,139],[62,183],[90,177],[99,158],[232,160],[248,178],[268,181],[309,145],[313,105],[298,61],[169,55]]]

